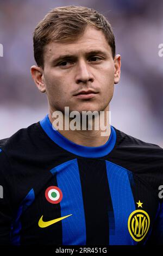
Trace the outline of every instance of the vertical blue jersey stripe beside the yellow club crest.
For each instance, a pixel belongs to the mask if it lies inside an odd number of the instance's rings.
[[[130,186],[130,172],[117,164],[106,161],[106,171],[114,209],[115,230],[109,230],[110,245],[136,245],[129,234],[128,218],[135,211],[133,193]],[[109,221],[110,224],[110,221]],[[110,229],[112,225],[110,224]]]

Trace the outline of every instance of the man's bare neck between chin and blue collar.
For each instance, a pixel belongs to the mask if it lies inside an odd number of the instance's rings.
[[[90,119],[92,120],[92,123],[87,121],[85,130],[83,130],[83,122],[79,122],[79,119],[78,122],[74,122],[72,121],[72,118],[69,118],[69,116],[66,117],[65,115],[57,119],[53,117],[53,111],[51,110],[49,110],[48,117],[54,128],[70,141],[86,147],[99,147],[104,145],[110,137],[111,128],[109,124],[108,111],[109,106],[103,111],[103,113],[100,113],[95,118]],[[58,126],[58,122],[60,122],[60,126]],[[78,130],[72,129],[72,123],[76,123],[75,126],[78,127]],[[91,126],[89,130],[88,126],[90,124]]]

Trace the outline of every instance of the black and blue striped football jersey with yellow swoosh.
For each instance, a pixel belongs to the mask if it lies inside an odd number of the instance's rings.
[[[48,115],[0,141],[1,245],[163,244],[163,150],[111,126],[71,142]]]

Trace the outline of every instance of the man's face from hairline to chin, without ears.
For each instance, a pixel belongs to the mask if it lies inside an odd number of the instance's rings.
[[[118,82],[115,66],[103,32],[94,27],[87,26],[76,41],[46,45],[42,84],[51,111],[106,109]]]

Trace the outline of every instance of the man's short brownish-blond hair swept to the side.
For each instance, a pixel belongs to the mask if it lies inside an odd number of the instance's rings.
[[[75,40],[82,35],[87,25],[101,29],[114,58],[115,37],[109,21],[94,9],[71,5],[52,9],[37,24],[33,34],[34,58],[37,65],[43,68],[43,51],[49,42]]]

